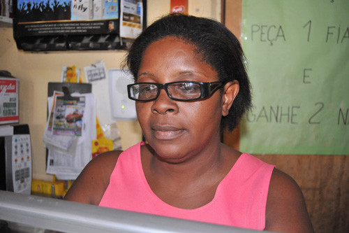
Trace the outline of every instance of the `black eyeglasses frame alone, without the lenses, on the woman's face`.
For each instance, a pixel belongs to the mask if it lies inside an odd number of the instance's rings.
[[[177,99],[171,96],[171,94],[168,92],[168,85],[172,85],[174,83],[195,83],[200,85],[200,89],[201,89],[201,94],[200,97],[195,98],[195,99]],[[202,83],[202,82],[195,82],[195,81],[178,81],[178,82],[171,82],[171,83],[133,83],[133,84],[129,84],[127,85],[127,92],[128,92],[128,99],[132,99],[134,101],[142,101],[142,102],[147,102],[147,101],[154,101],[156,99],[158,99],[158,96],[160,95],[161,89],[164,89],[166,94],[168,94],[168,97],[172,100],[175,101],[195,101],[198,99],[206,99],[208,97],[211,97],[212,94],[214,94],[214,92],[216,92],[216,90],[218,90],[220,87],[222,87],[223,85],[225,85],[225,83],[227,83],[226,81],[216,81],[216,82],[211,82],[211,83]],[[151,85],[156,85],[156,87],[158,87],[158,93],[156,94],[156,97],[151,98],[151,99],[135,99],[133,97],[131,97],[131,87],[133,85],[139,85],[139,84],[151,84]]]

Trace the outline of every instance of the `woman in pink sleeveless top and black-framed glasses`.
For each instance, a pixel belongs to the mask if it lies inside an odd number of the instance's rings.
[[[221,143],[251,106],[244,56],[222,24],[168,15],[127,57],[147,144],[92,160],[65,199],[207,223],[312,232],[295,181]]]

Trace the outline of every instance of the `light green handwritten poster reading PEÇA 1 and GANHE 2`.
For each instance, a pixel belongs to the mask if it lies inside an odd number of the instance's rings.
[[[244,0],[253,109],[240,149],[349,155],[349,1]]]

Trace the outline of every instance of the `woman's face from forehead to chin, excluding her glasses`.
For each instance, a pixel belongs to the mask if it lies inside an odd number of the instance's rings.
[[[193,48],[173,37],[151,43],[142,57],[137,82],[217,81],[217,72]],[[162,160],[183,162],[217,146],[222,116],[220,93],[218,90],[198,101],[174,101],[161,90],[154,101],[136,102],[145,139]]]

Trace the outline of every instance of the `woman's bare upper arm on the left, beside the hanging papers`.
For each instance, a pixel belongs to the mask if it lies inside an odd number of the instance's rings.
[[[82,170],[64,199],[98,205],[109,185],[110,174],[121,151],[110,151],[95,157]]]

